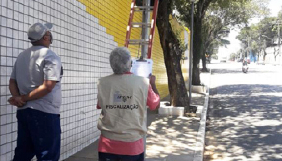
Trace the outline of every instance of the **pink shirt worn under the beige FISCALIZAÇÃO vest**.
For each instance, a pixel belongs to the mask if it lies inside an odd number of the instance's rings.
[[[155,94],[152,89],[152,86],[149,85],[147,106],[149,106],[150,110],[155,110],[159,103],[160,96]],[[98,103],[97,108],[100,109]],[[135,142],[123,142],[111,140],[101,135],[98,144],[98,151],[103,153],[113,153],[122,155],[138,155],[144,152],[144,142],[143,138],[140,140],[136,140]]]

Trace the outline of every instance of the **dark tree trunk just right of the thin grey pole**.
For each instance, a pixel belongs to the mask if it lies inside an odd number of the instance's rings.
[[[193,38],[193,72],[192,72],[192,84],[201,85],[199,62],[203,53],[203,40],[202,40],[202,23],[201,19],[194,18],[194,38]]]

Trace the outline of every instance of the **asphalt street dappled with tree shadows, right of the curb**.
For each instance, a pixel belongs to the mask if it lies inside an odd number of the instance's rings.
[[[282,160],[281,66],[208,64],[212,69],[205,161]]]

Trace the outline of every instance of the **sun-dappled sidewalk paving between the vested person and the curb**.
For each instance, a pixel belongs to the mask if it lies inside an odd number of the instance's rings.
[[[203,94],[192,93],[192,104],[203,106]],[[169,102],[169,96],[162,101]],[[146,161],[193,160],[199,118],[163,116],[148,112]]]

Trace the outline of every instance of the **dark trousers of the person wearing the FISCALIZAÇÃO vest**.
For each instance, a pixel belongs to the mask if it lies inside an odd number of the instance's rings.
[[[144,153],[139,155],[120,155],[99,152],[99,161],[144,161]]]

